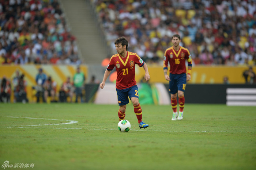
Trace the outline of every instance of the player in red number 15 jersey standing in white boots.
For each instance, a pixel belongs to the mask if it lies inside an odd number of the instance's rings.
[[[165,74],[165,80],[169,81],[169,92],[171,93],[171,104],[173,109],[172,120],[182,120],[185,104],[184,91],[187,81],[191,79],[192,59],[188,49],[180,46],[180,35],[173,35],[172,43],[173,46],[165,51],[165,56],[163,58],[163,73]],[[186,70],[185,59],[188,61],[188,73]],[[169,76],[167,74],[168,63],[170,64]],[[179,114],[177,113],[177,93],[180,106]]]

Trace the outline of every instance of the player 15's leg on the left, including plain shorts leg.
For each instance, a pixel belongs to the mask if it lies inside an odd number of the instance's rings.
[[[172,120],[177,120],[178,117],[178,112],[177,112],[177,81],[176,81],[176,76],[174,74],[170,73],[170,79],[169,81],[169,92],[171,93],[171,104],[172,104],[172,109],[173,109],[173,117]]]

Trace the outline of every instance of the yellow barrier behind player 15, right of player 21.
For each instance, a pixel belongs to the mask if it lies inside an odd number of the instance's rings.
[[[244,70],[247,70],[248,66],[194,66],[192,67],[190,84],[223,84],[223,77],[229,78],[230,84],[244,84],[245,80],[242,77]],[[169,70],[169,68],[168,68]],[[148,71],[150,74],[150,82],[162,82],[168,83],[163,76],[163,67],[148,65]],[[253,67],[253,71],[256,72],[256,66]],[[140,82],[144,79],[143,68],[136,67],[136,81]]]

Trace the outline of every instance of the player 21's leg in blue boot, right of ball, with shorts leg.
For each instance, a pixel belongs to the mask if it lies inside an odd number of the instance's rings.
[[[132,86],[128,91],[128,96],[130,97],[130,99],[132,101],[134,113],[138,119],[139,127],[147,128],[148,124],[146,124],[142,121],[142,109],[141,109],[140,103],[139,103],[138,86]]]

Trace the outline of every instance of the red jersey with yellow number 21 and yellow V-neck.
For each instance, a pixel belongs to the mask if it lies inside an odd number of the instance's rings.
[[[119,54],[111,57],[107,70],[113,70],[116,67],[117,89],[122,90],[136,85],[135,64],[138,64],[140,67],[144,65],[144,61],[136,53],[127,51],[125,58],[122,58]]]

